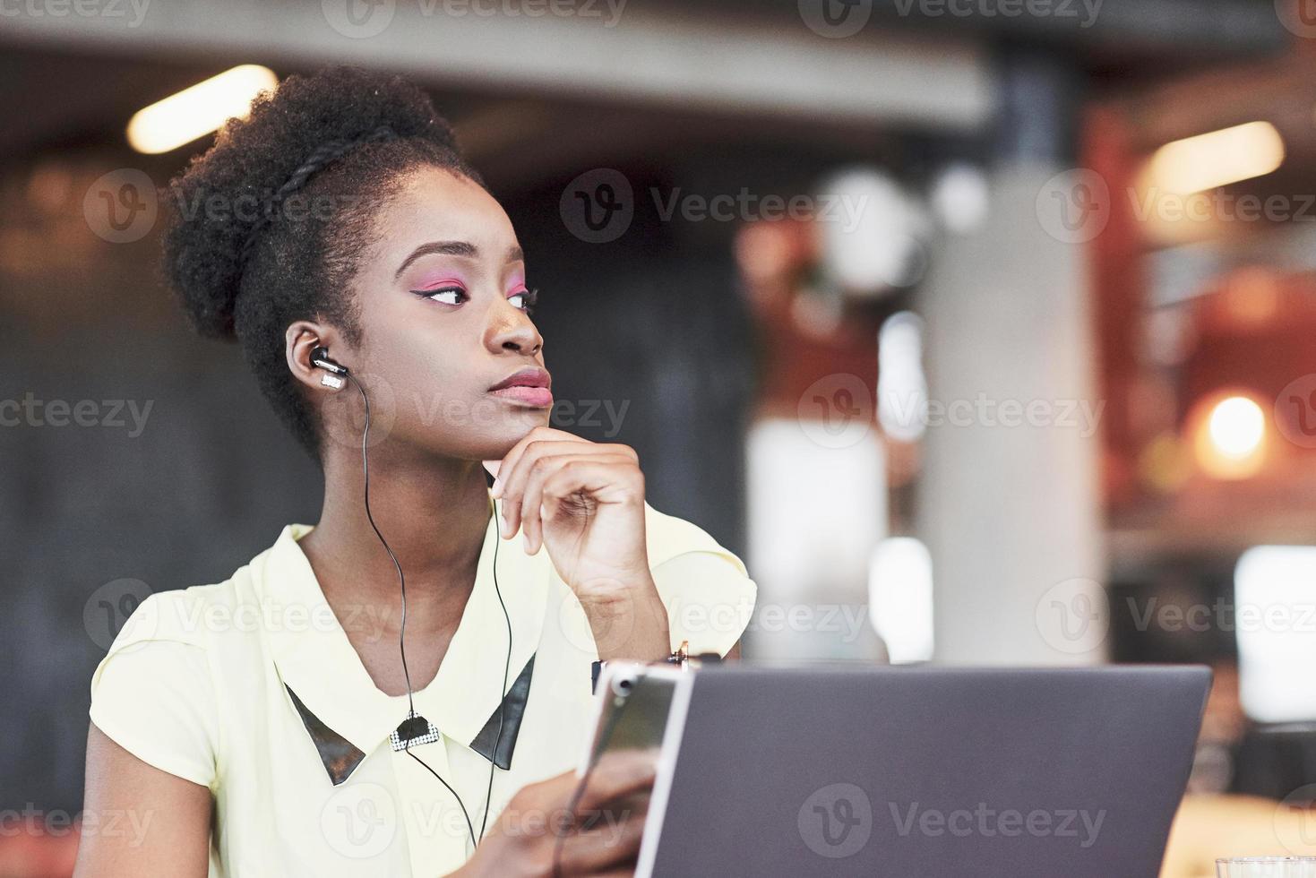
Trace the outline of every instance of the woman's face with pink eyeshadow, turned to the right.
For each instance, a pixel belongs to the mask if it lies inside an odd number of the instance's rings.
[[[354,290],[365,330],[354,371],[372,417],[391,407],[390,445],[501,458],[553,405],[512,221],[478,184],[426,167],[375,230]]]

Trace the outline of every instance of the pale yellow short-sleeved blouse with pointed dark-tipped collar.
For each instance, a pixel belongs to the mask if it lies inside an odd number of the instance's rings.
[[[412,752],[457,790],[476,833],[507,661],[496,520],[438,673],[415,692],[441,737]],[[725,654],[757,594],[745,565],[647,504],[645,527],[672,646]],[[92,675],[91,719],[142,761],[209,787],[212,877],[447,874],[471,854],[466,820],[391,746],[407,696],[382,692],[347,641],[297,545],[311,530],[290,524],[229,579],[143,600]],[[545,549],[528,555],[520,538],[504,541],[497,582],[513,646],[491,827],[522,786],[580,761],[599,658]]]

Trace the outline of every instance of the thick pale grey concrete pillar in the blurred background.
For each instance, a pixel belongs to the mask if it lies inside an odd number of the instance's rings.
[[[942,663],[1104,656],[1104,407],[1083,242],[1103,203],[1099,183],[1065,174],[1073,86],[1062,63],[1011,53],[987,220],[938,249],[919,294],[930,423],[917,527]]]

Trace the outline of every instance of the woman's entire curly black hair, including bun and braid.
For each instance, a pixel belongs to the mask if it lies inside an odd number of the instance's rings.
[[[241,342],[262,394],[317,462],[320,428],[288,371],[284,330],[324,320],[361,344],[350,283],[376,212],[421,166],[484,186],[425,92],[329,67],[262,92],[162,191],[166,282],[196,332]]]

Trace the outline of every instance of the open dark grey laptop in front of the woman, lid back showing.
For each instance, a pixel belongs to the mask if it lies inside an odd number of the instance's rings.
[[[637,875],[1154,878],[1211,671],[704,667]]]

